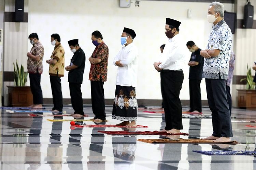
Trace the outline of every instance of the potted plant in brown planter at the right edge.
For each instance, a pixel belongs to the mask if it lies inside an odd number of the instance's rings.
[[[252,69],[248,67],[248,64],[246,78],[240,80],[242,81],[246,81],[246,89],[237,89],[238,107],[256,108],[255,82],[253,82]]]

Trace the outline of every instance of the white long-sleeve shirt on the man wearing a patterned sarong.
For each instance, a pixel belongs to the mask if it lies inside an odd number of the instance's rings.
[[[137,86],[138,73],[138,49],[131,43],[128,46],[122,47],[113,60],[113,64],[117,66],[116,61],[121,60],[123,67],[118,67],[116,75],[116,85],[120,86]]]

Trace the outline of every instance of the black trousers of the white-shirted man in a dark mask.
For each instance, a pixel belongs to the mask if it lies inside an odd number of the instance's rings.
[[[161,89],[165,109],[165,130],[183,129],[180,90],[183,71],[161,70]]]

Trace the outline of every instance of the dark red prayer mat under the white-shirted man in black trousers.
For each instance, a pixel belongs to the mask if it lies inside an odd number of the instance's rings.
[[[170,134],[158,131],[98,131],[109,135],[188,135],[188,133]]]

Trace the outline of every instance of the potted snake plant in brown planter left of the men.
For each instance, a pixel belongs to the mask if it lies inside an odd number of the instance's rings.
[[[24,107],[33,104],[33,95],[30,86],[25,86],[27,82],[28,73],[24,72],[23,65],[14,66],[14,84],[15,86],[8,87],[8,101],[10,106]]]

